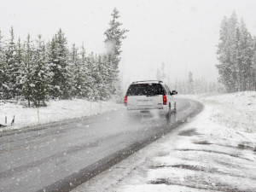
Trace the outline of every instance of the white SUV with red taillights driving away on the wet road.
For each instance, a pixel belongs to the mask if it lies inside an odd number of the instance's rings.
[[[176,113],[176,102],[173,98],[176,94],[176,90],[171,92],[162,81],[136,81],[129,86],[126,92],[125,106],[128,111],[157,110],[160,113]]]

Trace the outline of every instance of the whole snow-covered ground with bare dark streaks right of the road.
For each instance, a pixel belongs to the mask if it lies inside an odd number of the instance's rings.
[[[202,113],[73,191],[255,191],[256,92],[192,97]]]

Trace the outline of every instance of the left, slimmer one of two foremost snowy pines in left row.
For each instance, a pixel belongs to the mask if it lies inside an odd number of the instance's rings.
[[[27,35],[26,43],[25,43],[25,50],[23,55],[23,62],[24,62],[24,74],[22,77],[22,96],[27,101],[27,106],[31,106],[31,102],[33,101],[32,97],[32,89],[35,87],[35,84],[33,82],[33,74],[34,74],[34,68],[33,68],[33,48],[32,48],[32,42],[30,39],[30,35]]]

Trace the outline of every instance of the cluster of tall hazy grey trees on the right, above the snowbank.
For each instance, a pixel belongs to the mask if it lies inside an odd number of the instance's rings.
[[[222,21],[217,54],[219,81],[227,92],[256,90],[256,38],[235,12]]]

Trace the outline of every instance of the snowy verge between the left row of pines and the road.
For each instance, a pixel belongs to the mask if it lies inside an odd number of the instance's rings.
[[[0,127],[0,131],[43,125],[64,119],[81,118],[119,108],[124,108],[124,106],[115,102],[88,102],[81,99],[50,101],[45,108],[24,108],[19,104],[0,101],[0,124],[5,125],[5,117],[7,117],[8,125],[7,127]],[[14,116],[15,124],[10,125]]]

